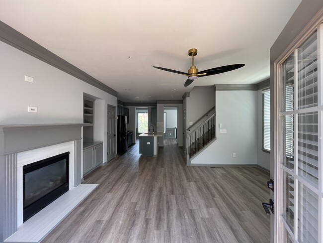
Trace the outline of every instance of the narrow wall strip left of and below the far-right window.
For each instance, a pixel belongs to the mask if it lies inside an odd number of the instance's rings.
[[[262,90],[257,91],[257,164],[270,169],[270,153],[262,151]]]

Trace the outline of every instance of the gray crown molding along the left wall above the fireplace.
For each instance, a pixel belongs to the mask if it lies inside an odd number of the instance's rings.
[[[118,92],[111,89],[107,85],[101,83],[97,79],[88,75],[81,69],[65,61],[63,58],[57,56],[53,52],[47,50],[43,46],[39,45],[35,41],[29,39],[27,36],[21,34],[17,30],[11,28],[9,25],[0,21],[0,41],[17,48],[67,74],[70,74],[85,83],[88,83],[100,90],[103,90],[115,97],[118,96]]]

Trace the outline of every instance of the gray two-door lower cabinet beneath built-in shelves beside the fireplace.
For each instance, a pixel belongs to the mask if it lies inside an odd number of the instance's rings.
[[[103,143],[83,149],[83,176],[103,162]]]

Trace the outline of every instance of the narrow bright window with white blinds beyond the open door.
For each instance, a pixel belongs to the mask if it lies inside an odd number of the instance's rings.
[[[262,92],[263,106],[263,127],[262,127],[262,148],[270,151],[270,90]]]

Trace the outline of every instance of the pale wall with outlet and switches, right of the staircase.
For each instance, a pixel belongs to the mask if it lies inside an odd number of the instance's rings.
[[[256,102],[256,91],[217,91],[217,140],[192,159],[192,164],[256,164]],[[219,123],[227,133],[219,132]]]

